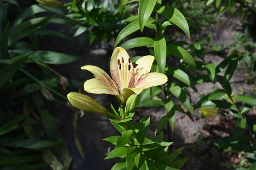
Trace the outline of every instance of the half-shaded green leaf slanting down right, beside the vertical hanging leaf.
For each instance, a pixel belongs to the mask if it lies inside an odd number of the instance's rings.
[[[196,67],[195,60],[192,58],[192,56],[187,52],[185,49],[183,49],[180,46],[176,46],[174,44],[167,45],[167,54],[169,55],[175,55],[178,58],[182,59],[186,63],[188,63],[193,68]]]

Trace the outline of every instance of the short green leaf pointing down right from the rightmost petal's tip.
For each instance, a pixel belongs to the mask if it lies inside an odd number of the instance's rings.
[[[190,86],[189,76],[183,72],[181,69],[177,67],[167,67],[166,75],[172,75],[173,77],[177,78],[181,82],[185,83],[186,85]]]

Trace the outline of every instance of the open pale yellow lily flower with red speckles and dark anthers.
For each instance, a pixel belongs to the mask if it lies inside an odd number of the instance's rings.
[[[95,78],[84,82],[84,90],[89,93],[116,95],[119,102],[125,106],[126,100],[132,95],[139,95],[143,89],[159,86],[167,82],[167,76],[151,72],[154,56],[147,55],[136,63],[125,49],[117,47],[110,61],[111,77],[97,66],[82,66],[81,69],[93,73]]]

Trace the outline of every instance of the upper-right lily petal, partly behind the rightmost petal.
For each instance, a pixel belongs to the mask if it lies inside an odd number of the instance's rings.
[[[150,72],[152,64],[154,61],[154,56],[146,55],[136,61],[136,67],[134,69],[134,82],[139,80],[143,75]]]

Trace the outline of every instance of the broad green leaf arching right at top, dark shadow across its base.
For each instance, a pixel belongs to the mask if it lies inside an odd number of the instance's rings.
[[[157,12],[163,15],[164,17],[166,17],[176,26],[180,27],[180,29],[182,29],[183,32],[185,32],[185,34],[190,39],[189,25],[186,21],[186,18],[178,9],[172,6],[166,5],[166,6],[162,6]]]

